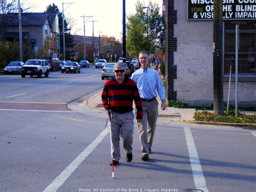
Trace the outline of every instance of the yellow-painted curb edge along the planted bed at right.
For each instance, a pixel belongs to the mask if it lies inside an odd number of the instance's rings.
[[[248,127],[250,129],[256,129],[256,124],[246,124],[246,123],[221,123],[221,122],[201,122],[201,121],[181,121],[181,123],[187,124],[204,124],[204,125],[219,125],[219,126],[240,126]]]

